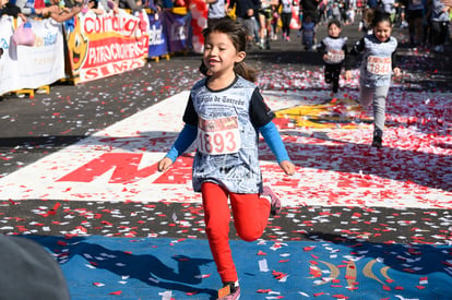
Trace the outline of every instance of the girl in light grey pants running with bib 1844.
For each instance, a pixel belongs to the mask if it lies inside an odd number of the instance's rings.
[[[382,146],[385,105],[391,85],[391,71],[399,76],[401,70],[396,67],[395,50],[397,40],[391,36],[391,16],[382,11],[373,13],[372,34],[365,36],[353,47],[350,56],[364,52],[360,69],[359,101],[367,107],[373,104],[373,141],[372,146]],[[350,57],[348,56],[348,57]],[[350,64],[347,60],[345,79],[352,79]]]

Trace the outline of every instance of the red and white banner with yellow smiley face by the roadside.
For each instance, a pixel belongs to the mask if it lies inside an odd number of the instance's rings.
[[[123,11],[119,14],[79,14],[73,24],[66,24],[74,83],[143,67],[148,52],[147,28],[147,17]]]

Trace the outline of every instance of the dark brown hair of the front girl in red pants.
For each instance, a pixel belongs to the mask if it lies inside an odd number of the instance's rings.
[[[223,19],[217,21],[212,26],[203,29],[202,34],[204,36],[204,40],[206,40],[207,36],[214,32],[226,34],[237,52],[247,50],[247,33],[240,23],[231,19]],[[246,64],[245,61],[236,63],[234,71],[236,74],[251,82],[255,82],[258,79],[258,71]]]

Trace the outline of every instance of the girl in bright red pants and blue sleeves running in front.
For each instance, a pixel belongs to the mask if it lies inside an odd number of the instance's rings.
[[[167,170],[197,140],[192,180],[201,192],[205,231],[224,288],[218,299],[239,299],[240,286],[229,248],[230,212],[239,237],[259,239],[270,213],[278,214],[279,199],[262,187],[259,132],[286,175],[294,175],[283,141],[272,122],[274,113],[252,81],[255,71],[245,64],[247,33],[239,23],[222,20],[204,34],[203,62],[209,76],[191,89],[185,127],[158,170]]]

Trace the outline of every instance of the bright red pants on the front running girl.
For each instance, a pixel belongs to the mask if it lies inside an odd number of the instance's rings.
[[[230,212],[234,225],[245,241],[254,241],[262,236],[270,215],[270,201],[259,194],[235,194],[212,182],[201,185],[204,206],[205,230],[212,255],[223,283],[236,281],[237,271],[229,247]]]

